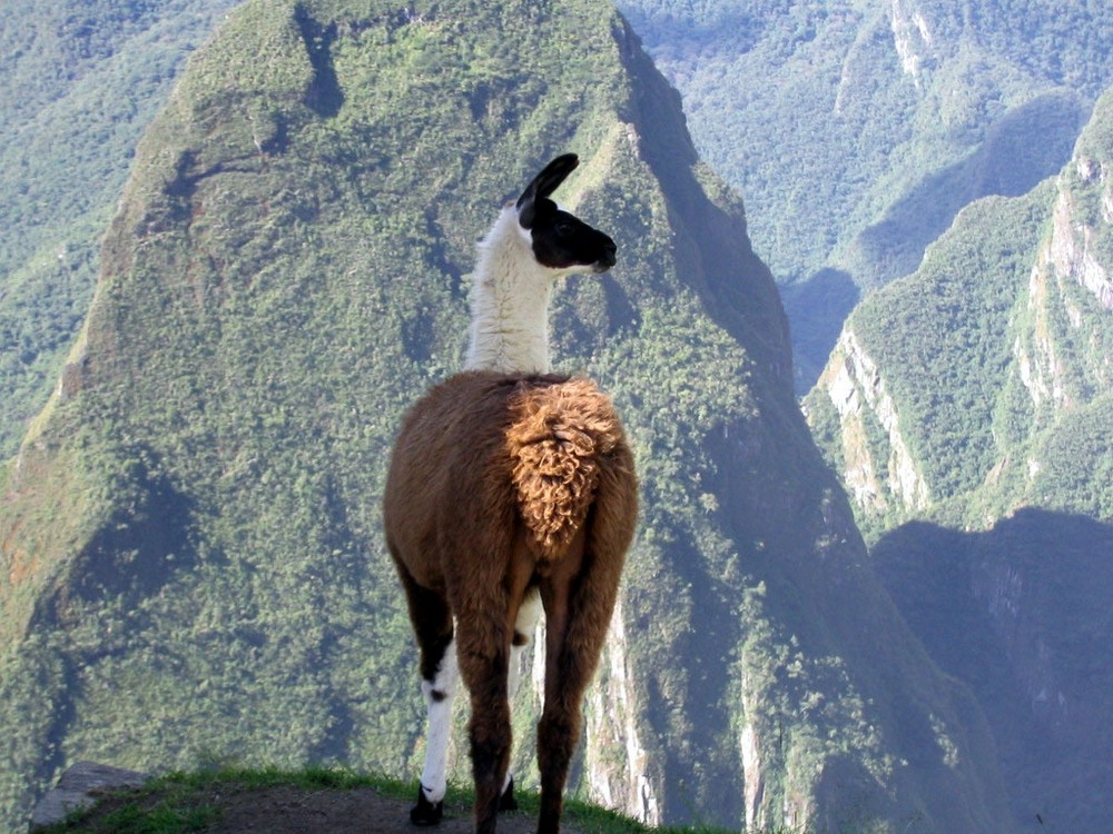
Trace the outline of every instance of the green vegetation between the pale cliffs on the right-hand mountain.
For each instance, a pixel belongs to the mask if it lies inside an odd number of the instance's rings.
[[[987,198],[959,215],[914,275],[870,296],[846,327],[881,368],[888,391],[899,405],[900,426],[930,499],[976,489],[1001,459],[1003,440],[1024,435],[1024,417],[1002,405],[1016,338],[1017,309],[1036,251],[1048,228],[1054,189],[1045,185],[1024,198]],[[841,356],[833,357],[833,365]],[[807,398],[809,419],[820,445],[837,449],[843,426],[825,380]],[[888,438],[879,429],[865,449],[834,455],[841,470],[851,458],[868,455],[886,473]],[[874,536],[916,509],[887,495],[885,512],[859,513],[864,532]]]

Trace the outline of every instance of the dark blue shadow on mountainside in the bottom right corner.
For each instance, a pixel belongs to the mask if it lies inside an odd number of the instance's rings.
[[[912,522],[871,555],[933,659],[981,702],[1018,831],[1109,831],[1113,525],[1027,507],[984,532]]]

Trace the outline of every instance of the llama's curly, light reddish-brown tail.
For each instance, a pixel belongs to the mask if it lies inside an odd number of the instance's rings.
[[[519,512],[539,556],[554,559],[583,525],[622,425],[610,398],[581,378],[524,384],[514,409],[506,443]]]

